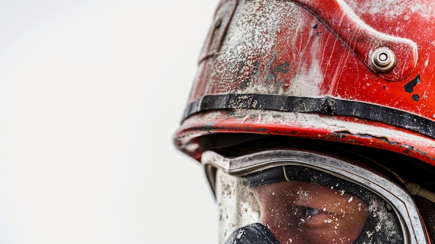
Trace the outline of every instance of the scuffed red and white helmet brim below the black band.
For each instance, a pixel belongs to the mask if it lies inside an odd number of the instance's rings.
[[[174,135],[178,149],[197,161],[206,148],[199,138],[222,133],[311,138],[375,147],[435,165],[435,141],[419,133],[354,117],[233,109],[205,111],[188,117]]]

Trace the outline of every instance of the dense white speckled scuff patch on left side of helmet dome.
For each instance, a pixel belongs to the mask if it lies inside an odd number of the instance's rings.
[[[300,8],[284,1],[239,2],[211,70],[211,76],[220,82],[220,90],[270,93],[265,83],[274,79],[277,35],[289,28],[289,22],[296,22]],[[236,87],[235,82],[243,86]]]

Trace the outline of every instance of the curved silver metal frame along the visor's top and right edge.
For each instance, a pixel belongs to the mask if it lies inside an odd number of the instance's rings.
[[[277,166],[302,165],[334,175],[372,191],[390,204],[402,227],[404,244],[429,243],[416,203],[407,191],[375,172],[342,159],[302,150],[272,149],[235,158],[206,151],[202,154],[202,163],[213,192],[217,169],[232,176],[243,177]]]

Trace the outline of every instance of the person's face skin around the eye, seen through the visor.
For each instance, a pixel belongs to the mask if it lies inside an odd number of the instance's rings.
[[[255,187],[261,220],[279,243],[353,243],[368,219],[358,197],[302,181]]]

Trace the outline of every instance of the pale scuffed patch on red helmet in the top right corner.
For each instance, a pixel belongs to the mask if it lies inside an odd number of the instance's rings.
[[[369,13],[370,15],[381,14],[386,18],[399,15],[421,15],[429,18],[435,13],[433,1],[409,1],[409,0],[372,0],[356,1],[346,0],[347,4],[358,15]]]

